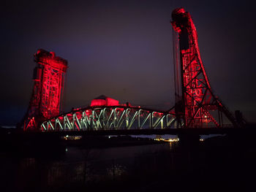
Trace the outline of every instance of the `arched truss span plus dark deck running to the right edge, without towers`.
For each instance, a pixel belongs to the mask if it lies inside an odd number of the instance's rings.
[[[210,124],[209,124],[210,125]],[[238,134],[255,133],[233,125],[184,128],[173,109],[169,112],[130,106],[84,107],[42,122],[40,134],[66,135],[151,135],[151,134]],[[37,134],[37,132],[33,133]]]

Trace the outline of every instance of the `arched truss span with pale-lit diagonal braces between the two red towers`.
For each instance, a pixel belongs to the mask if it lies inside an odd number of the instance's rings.
[[[176,116],[140,107],[100,106],[74,110],[45,120],[42,131],[176,128]]]

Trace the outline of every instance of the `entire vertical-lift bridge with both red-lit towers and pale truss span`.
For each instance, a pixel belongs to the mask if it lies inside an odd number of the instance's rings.
[[[34,88],[23,130],[65,134],[214,134],[244,126],[211,90],[189,12],[172,13],[175,106],[168,111],[150,110],[100,96],[89,107],[59,115],[67,61],[55,53],[38,50],[34,55]]]

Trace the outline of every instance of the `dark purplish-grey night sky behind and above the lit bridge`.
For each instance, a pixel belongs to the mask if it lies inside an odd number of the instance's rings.
[[[167,110],[174,104],[170,14],[190,12],[214,93],[256,121],[253,1],[1,2],[0,125],[15,125],[32,91],[33,54],[69,61],[65,111],[105,94]]]

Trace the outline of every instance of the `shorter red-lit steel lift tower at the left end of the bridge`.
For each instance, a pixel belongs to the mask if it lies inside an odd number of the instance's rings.
[[[34,61],[37,63],[34,69],[34,87],[25,115],[24,130],[37,129],[42,120],[59,115],[64,95],[67,61],[42,49],[34,54]]]

